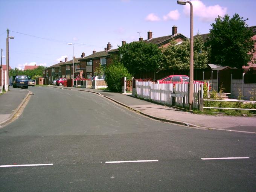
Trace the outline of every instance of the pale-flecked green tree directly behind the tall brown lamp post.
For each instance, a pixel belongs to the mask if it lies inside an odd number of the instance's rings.
[[[162,48],[164,55],[164,68],[166,70],[189,70],[190,66],[190,40],[181,44],[172,40],[167,47]],[[205,69],[208,64],[209,51],[204,47],[199,35],[194,37],[194,69]]]

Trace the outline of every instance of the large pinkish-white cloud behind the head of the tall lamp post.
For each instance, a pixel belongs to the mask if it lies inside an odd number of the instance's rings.
[[[226,7],[221,7],[219,5],[206,6],[200,0],[192,0],[193,14],[200,18],[201,21],[210,22],[214,21],[216,17],[224,16],[227,12]],[[189,3],[184,6],[183,12],[189,16],[190,15],[190,5]]]

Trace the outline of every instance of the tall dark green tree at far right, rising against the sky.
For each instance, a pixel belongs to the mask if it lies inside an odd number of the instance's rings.
[[[211,48],[211,62],[241,69],[253,59],[254,43],[252,30],[245,23],[248,19],[238,14],[218,17],[212,23],[207,46]],[[255,62],[255,60],[253,61]]]

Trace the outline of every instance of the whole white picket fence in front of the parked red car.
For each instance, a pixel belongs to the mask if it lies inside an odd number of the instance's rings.
[[[140,82],[136,81],[136,93],[138,98],[149,99],[151,101],[164,104],[172,105],[171,94],[184,94],[184,106],[189,107],[188,104],[188,85],[189,84],[155,84],[150,81]],[[194,84],[194,104],[193,107],[197,108],[198,106],[198,91],[201,90],[200,84]],[[201,90],[203,93],[203,90]],[[175,97],[175,106],[183,107],[183,98]]]

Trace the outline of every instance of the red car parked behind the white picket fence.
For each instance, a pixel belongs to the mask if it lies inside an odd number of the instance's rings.
[[[187,75],[169,75],[166,77],[163,77],[162,79],[158,79],[157,83],[162,84],[162,83],[189,83],[189,76]],[[204,84],[203,81],[196,81],[194,80],[194,83],[200,83]]]

